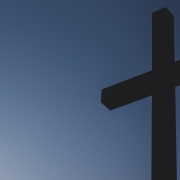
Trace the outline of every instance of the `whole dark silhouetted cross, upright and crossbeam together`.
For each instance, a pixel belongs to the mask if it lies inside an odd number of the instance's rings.
[[[102,89],[109,110],[152,96],[152,180],[177,180],[175,87],[180,60],[174,61],[174,17],[167,8],[152,13],[152,71]]]

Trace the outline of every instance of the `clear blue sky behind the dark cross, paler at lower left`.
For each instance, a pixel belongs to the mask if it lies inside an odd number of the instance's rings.
[[[179,60],[179,0],[0,1],[0,179],[151,179],[151,97],[113,111],[100,98],[151,70],[163,7]],[[179,153],[180,87],[176,102]]]

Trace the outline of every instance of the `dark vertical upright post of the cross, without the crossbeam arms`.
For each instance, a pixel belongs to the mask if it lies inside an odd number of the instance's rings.
[[[176,180],[175,88],[168,83],[174,63],[174,19],[152,14],[152,180]]]

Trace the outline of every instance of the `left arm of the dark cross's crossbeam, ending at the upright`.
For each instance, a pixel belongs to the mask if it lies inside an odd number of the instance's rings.
[[[152,94],[152,71],[102,89],[101,103],[109,110],[135,102]]]

